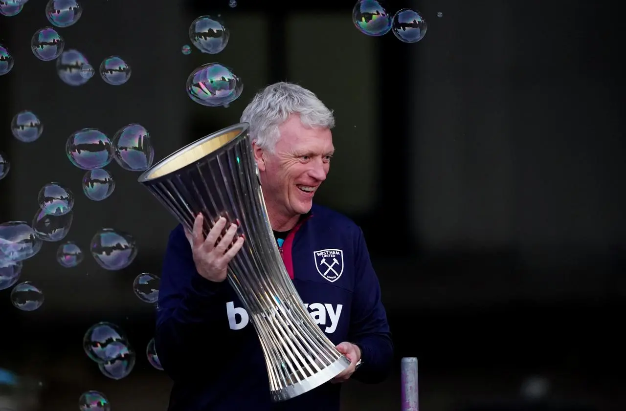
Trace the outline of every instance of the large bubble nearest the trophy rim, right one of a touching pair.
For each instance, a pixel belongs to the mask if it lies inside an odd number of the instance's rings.
[[[128,124],[113,136],[115,161],[129,171],[148,170],[155,157],[150,133],[141,124]]]

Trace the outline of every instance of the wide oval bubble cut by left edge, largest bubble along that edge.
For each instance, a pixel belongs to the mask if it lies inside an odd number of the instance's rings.
[[[43,242],[24,221],[0,224],[0,260],[23,261],[41,250]]]

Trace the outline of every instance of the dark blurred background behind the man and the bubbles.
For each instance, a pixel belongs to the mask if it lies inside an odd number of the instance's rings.
[[[80,21],[58,31],[94,67],[122,56],[133,74],[117,87],[97,74],[68,86],[54,62],[33,56],[32,34],[49,26],[45,4],[30,0],[17,16],[0,16],[0,43],[16,59],[0,77],[0,150],[12,163],[0,181],[0,221],[31,221],[39,188],[58,181],[76,195],[66,240],[88,251],[96,230],[119,228],[140,251],[122,271],[101,270],[89,255],[66,269],[55,261],[58,245],[44,243],[21,277],[44,290],[44,305],[20,312],[10,290],[0,292],[0,367],[42,382],[42,410],[71,410],[91,389],[115,411],[165,410],[170,387],[145,357],[113,381],[81,349],[86,329],[103,320],[145,347],[153,308],[132,282],[160,271],[176,223],[136,183],[138,173],[115,162],[107,167],[115,193],[88,200],[84,171],[64,155],[69,134],[94,127],[112,136],[140,123],[159,160],[237,123],[256,91],[281,80],[335,111],[337,155],[316,198],[362,226],[397,348],[394,376],[375,387],[347,383],[344,409],[400,409],[401,357],[419,358],[423,410],[516,400],[533,375],[547,378],[559,401],[624,409],[619,3],[387,2],[389,13],[416,8],[428,22],[422,41],[404,44],[392,33],[359,33],[354,1],[242,0],[233,9],[227,0],[83,1]],[[230,28],[227,48],[208,55],[192,46],[184,56],[190,23],[216,13]],[[188,74],[212,61],[244,80],[229,108],[205,108],[185,93]],[[44,124],[34,143],[11,135],[23,109]]]

